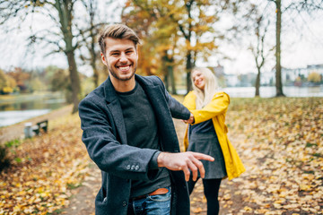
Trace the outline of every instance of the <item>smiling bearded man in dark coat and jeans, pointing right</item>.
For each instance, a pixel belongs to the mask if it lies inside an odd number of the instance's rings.
[[[83,142],[101,170],[96,214],[189,214],[187,183],[199,159],[212,157],[179,152],[172,117],[192,123],[194,117],[170,97],[156,76],[135,74],[138,37],[122,24],[100,33],[103,64],[109,78],[79,105]]]

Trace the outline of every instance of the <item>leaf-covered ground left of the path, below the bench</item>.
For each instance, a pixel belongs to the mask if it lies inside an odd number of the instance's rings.
[[[49,132],[12,142],[10,168],[0,173],[0,214],[51,214],[69,203],[89,159],[77,115],[49,122]]]

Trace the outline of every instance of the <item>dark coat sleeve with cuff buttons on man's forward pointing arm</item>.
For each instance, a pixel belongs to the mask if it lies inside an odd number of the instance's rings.
[[[83,99],[79,105],[82,140],[90,158],[109,174],[126,179],[149,180],[158,170],[158,167],[150,166],[150,161],[160,151],[139,149],[118,142],[114,125],[109,122],[109,111],[104,106],[104,102],[100,104],[96,99]]]

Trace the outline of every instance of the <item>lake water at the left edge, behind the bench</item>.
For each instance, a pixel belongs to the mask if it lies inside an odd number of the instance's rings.
[[[47,98],[30,98],[23,101],[0,100],[0,127],[13,125],[26,119],[45,115],[65,106],[65,99],[53,95]]]

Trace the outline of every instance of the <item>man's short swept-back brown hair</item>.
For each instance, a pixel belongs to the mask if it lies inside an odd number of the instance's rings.
[[[140,44],[140,39],[135,34],[135,31],[127,27],[124,24],[111,24],[108,25],[105,30],[102,30],[99,35],[99,46],[100,51],[103,55],[105,55],[106,51],[106,43],[104,39],[111,38],[111,39],[130,39],[134,42],[135,48],[137,44]]]

